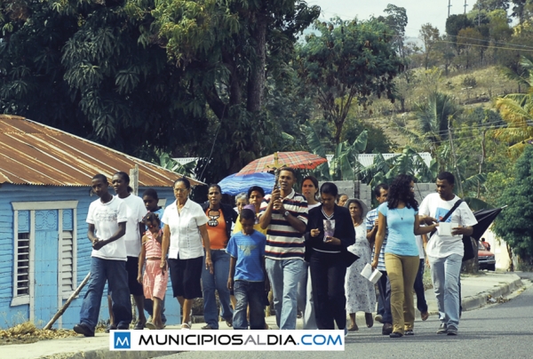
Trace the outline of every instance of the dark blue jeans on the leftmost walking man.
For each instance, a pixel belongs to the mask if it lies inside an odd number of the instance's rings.
[[[113,299],[112,309],[115,323],[118,323],[118,328],[128,329],[131,323],[131,302],[125,260],[91,257],[91,279],[87,284],[87,292],[80,310],[80,322],[94,331],[98,323],[99,308],[106,282],[111,291],[111,299]]]

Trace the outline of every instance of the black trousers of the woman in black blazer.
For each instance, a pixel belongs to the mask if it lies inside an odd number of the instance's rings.
[[[309,260],[313,285],[314,314],[318,329],[346,328],[346,265],[340,253],[314,251]]]

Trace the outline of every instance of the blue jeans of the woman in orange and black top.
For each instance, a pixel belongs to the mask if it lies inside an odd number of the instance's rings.
[[[211,250],[213,274],[205,269],[205,256],[203,256],[202,291],[203,291],[203,318],[212,329],[219,329],[219,307],[215,297],[215,290],[219,292],[222,318],[231,320],[233,310],[230,307],[229,290],[227,289],[227,275],[229,275],[229,254],[227,251]]]

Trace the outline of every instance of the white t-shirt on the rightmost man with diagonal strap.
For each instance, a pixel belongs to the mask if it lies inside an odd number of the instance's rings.
[[[441,220],[458,200],[459,197],[457,195],[450,201],[444,201],[438,193],[426,195],[426,198],[420,204],[418,214],[429,215]],[[477,219],[473,216],[473,212],[468,208],[468,205],[463,202],[446,219],[446,222],[458,223],[460,227],[470,227],[477,223]],[[426,254],[429,257],[445,258],[451,254],[459,254],[460,256],[464,254],[462,235],[440,236],[438,232],[435,232],[431,238],[429,238],[428,234],[428,239]]]

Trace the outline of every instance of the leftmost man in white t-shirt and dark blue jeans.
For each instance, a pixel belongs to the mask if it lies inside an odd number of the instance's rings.
[[[94,337],[99,319],[99,308],[106,282],[113,298],[113,314],[117,328],[127,330],[131,323],[130,292],[126,272],[126,246],[123,235],[126,232],[127,213],[123,200],[107,191],[107,178],[97,174],[92,178],[92,191],[99,199],[92,202],[87,213],[89,224],[87,236],[92,243],[91,279],[87,284],[80,323],[74,331],[85,337]]]

